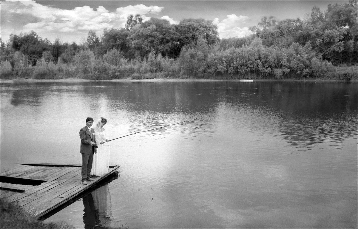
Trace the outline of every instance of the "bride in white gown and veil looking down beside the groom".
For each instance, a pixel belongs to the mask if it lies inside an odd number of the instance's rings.
[[[110,164],[110,146],[108,142],[107,131],[104,126],[107,123],[107,119],[99,118],[92,128],[95,129],[96,144],[98,144],[97,154],[93,155],[93,163],[91,175],[101,176],[108,172],[108,166]]]

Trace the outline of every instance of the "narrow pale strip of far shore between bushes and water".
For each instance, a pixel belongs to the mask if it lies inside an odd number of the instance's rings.
[[[342,81],[335,79],[172,79],[172,78],[155,78],[155,79],[111,79],[111,80],[91,80],[91,79],[79,79],[79,78],[66,78],[66,79],[0,79],[0,84],[3,83],[81,83],[81,82],[267,82],[267,81],[292,81],[292,82],[358,82],[358,79],[352,79],[350,81]]]

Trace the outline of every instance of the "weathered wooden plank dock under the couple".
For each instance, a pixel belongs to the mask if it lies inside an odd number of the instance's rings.
[[[106,177],[116,174],[119,166],[110,166],[107,174],[93,176],[88,185],[81,182],[81,165],[21,164],[20,168],[1,172],[0,194],[17,202],[36,218],[73,200]]]

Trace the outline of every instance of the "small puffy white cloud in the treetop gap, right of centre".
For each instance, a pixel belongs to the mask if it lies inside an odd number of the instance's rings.
[[[240,28],[238,25],[245,24],[248,19],[248,16],[229,14],[227,15],[227,18],[223,19],[221,22],[218,18],[215,18],[213,23],[218,26],[218,34],[220,38],[243,37],[252,34],[252,31],[247,27]]]

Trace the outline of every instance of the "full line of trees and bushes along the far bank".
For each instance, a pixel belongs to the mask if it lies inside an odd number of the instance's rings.
[[[81,44],[37,33],[1,39],[1,78],[339,78],[357,77],[357,0],[314,7],[305,19],[264,17],[244,38],[219,39],[210,20],[177,25],[130,15],[125,28],[89,31]]]

